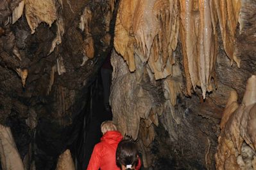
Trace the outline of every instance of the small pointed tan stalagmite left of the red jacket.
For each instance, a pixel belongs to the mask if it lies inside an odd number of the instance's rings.
[[[73,158],[69,149],[65,150],[60,157],[58,157],[58,163],[56,170],[75,170]]]

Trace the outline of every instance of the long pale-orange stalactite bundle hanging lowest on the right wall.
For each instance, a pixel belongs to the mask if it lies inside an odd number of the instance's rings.
[[[186,73],[187,92],[190,81],[193,89],[201,87],[203,98],[212,90],[214,66],[217,54],[216,16],[210,1],[180,1],[180,35],[182,38],[183,62]],[[189,73],[189,74],[188,74]]]

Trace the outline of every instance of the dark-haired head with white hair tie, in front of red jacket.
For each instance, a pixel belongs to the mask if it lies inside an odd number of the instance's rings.
[[[135,169],[139,161],[138,151],[132,140],[121,140],[115,153],[117,166],[122,170]]]

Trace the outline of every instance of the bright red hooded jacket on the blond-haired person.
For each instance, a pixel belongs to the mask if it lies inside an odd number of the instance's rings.
[[[118,131],[108,131],[103,137],[101,142],[94,146],[92,156],[87,170],[120,170],[115,163],[115,151],[118,143],[123,139],[123,136]],[[141,167],[141,161],[136,169]]]

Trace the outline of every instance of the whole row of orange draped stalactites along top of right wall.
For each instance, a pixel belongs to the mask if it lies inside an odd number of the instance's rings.
[[[139,57],[159,80],[173,74],[173,51],[180,30],[187,94],[191,96],[191,89],[198,86],[205,99],[206,92],[212,91],[211,79],[217,81],[218,22],[225,51],[239,66],[234,43],[240,7],[240,1],[121,1],[114,46],[130,71],[135,71],[135,58]]]

